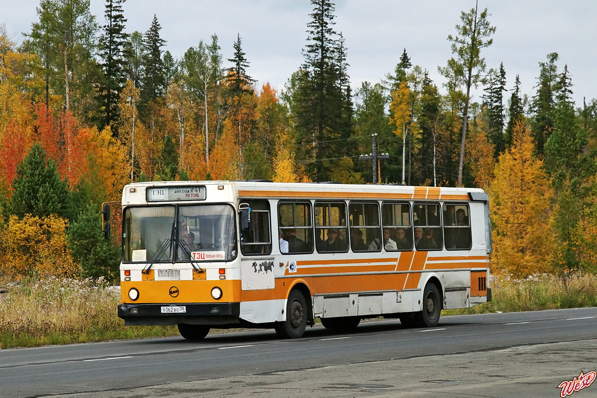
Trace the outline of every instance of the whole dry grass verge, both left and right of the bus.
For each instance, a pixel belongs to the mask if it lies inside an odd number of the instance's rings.
[[[0,285],[8,280],[0,279]],[[597,306],[597,276],[492,277],[493,301],[446,315]],[[124,326],[120,294],[103,279],[23,280],[0,294],[0,348],[178,335],[176,326]]]

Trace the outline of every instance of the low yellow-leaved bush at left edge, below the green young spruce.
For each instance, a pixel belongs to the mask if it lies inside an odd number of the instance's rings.
[[[11,215],[0,231],[0,272],[39,277],[78,277],[81,266],[73,261],[66,242],[67,221],[57,215],[19,220]]]

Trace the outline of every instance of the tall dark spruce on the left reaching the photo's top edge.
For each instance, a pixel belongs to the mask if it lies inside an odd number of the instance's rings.
[[[106,126],[112,126],[112,135],[118,135],[118,98],[127,82],[127,57],[125,47],[128,34],[124,31],[127,19],[122,14],[122,4],[125,0],[106,0],[103,35],[100,37],[100,57],[103,59],[101,68],[104,81],[100,86],[101,99],[104,107]]]

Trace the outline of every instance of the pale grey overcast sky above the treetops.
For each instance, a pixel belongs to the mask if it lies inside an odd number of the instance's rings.
[[[36,20],[36,0],[0,0],[0,21],[20,41]],[[413,64],[429,71],[441,87],[437,72],[451,56],[448,34],[455,33],[460,12],[475,7],[473,0],[398,1],[346,0],[336,2],[337,32],[346,38],[348,72],[353,91],[361,82],[379,82],[391,73],[406,48]],[[488,8],[497,30],[494,44],[481,53],[488,67],[504,63],[507,88],[520,75],[523,94],[533,95],[538,63],[547,53],[559,54],[558,72],[568,64],[577,106],[597,97],[597,3],[589,0],[479,1]],[[127,31],[145,32],[153,14],[162,26],[165,50],[176,58],[216,33],[224,58],[232,57],[239,33],[250,62],[248,74],[258,84],[269,81],[282,90],[303,62],[306,24],[313,6],[307,0],[127,0]],[[91,0],[91,12],[104,23],[104,1]],[[227,61],[224,66],[229,66]],[[441,88],[441,91],[445,90]],[[475,100],[479,100],[479,91]]]

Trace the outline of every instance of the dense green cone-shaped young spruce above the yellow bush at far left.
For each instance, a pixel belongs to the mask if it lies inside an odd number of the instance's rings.
[[[7,205],[8,214],[23,218],[25,214],[47,217],[50,214],[62,218],[72,215],[71,194],[66,182],[60,178],[56,163],[48,156],[41,144],[35,143],[29,153],[17,165],[13,181],[13,196]]]

